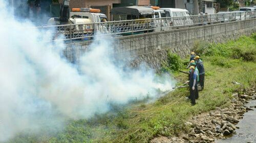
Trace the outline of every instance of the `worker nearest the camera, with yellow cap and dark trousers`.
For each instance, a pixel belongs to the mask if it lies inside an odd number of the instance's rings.
[[[189,99],[191,100],[191,105],[194,106],[196,104],[196,93],[197,93],[197,74],[195,73],[195,67],[190,66],[189,69],[191,70],[189,76]]]

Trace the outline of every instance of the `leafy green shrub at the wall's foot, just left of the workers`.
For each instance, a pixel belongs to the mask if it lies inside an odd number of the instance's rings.
[[[167,59],[161,63],[161,71],[163,73],[170,73],[171,71],[178,71],[181,65],[180,56],[167,51]]]

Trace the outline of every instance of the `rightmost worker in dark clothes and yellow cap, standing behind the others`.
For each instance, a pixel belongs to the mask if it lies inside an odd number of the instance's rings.
[[[195,57],[195,61],[196,61],[197,69],[199,71],[199,84],[201,86],[201,90],[203,90],[204,89],[204,75],[205,75],[204,65],[199,56]]]

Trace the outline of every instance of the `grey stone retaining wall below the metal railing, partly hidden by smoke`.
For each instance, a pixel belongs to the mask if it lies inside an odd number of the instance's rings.
[[[256,32],[256,19],[218,23],[201,27],[176,29],[140,35],[114,38],[114,56],[117,60],[128,61],[132,67],[146,63],[159,69],[161,61],[166,58],[166,50],[181,57],[189,55],[196,40],[208,42],[225,42],[242,35]],[[67,44],[64,55],[70,62],[79,63],[82,54],[89,50],[93,41]]]

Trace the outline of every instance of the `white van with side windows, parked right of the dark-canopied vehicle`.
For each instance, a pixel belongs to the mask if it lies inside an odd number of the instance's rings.
[[[194,24],[194,22],[190,18],[189,11],[186,9],[160,8],[160,10],[164,10],[166,17],[174,17],[173,21],[169,22],[171,26],[179,27]]]

